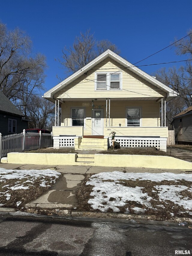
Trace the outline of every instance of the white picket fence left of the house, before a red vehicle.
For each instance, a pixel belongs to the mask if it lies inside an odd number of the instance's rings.
[[[0,133],[0,159],[10,152],[23,152],[40,148],[52,147],[52,133],[26,133],[2,136]]]

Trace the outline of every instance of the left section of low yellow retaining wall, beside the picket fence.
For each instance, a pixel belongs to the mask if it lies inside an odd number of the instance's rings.
[[[10,164],[73,165],[76,157],[76,154],[13,152],[7,154],[7,162]]]

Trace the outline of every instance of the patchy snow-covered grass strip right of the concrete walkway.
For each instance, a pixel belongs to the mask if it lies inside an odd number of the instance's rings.
[[[192,174],[103,172],[87,177],[80,190],[86,199],[80,208],[192,217]]]

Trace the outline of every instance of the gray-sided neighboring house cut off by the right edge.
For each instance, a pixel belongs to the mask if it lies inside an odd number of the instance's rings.
[[[178,144],[192,145],[192,106],[173,117],[175,140]]]

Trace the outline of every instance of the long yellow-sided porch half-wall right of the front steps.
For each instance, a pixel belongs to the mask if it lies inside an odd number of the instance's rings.
[[[104,127],[105,136],[111,136],[111,131],[116,136],[160,136],[167,137],[167,127]]]

